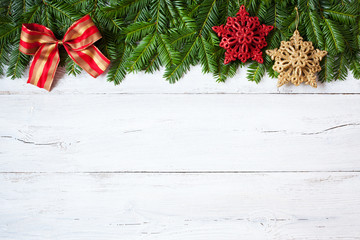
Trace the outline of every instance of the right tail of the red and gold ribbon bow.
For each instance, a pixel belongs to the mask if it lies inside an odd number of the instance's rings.
[[[80,51],[74,51],[67,47],[66,44],[64,44],[64,47],[72,60],[94,78],[102,74],[110,65],[110,60],[94,45]]]

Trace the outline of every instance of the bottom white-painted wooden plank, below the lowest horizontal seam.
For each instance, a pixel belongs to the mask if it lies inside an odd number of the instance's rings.
[[[360,239],[359,173],[0,179],[1,239]]]

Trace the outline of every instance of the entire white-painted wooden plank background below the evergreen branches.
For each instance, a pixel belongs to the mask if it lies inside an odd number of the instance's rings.
[[[359,240],[360,81],[0,79],[0,239]]]

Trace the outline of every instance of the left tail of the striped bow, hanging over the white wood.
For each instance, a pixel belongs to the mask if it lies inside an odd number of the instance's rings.
[[[31,63],[28,83],[50,91],[59,60],[58,43],[43,44]]]

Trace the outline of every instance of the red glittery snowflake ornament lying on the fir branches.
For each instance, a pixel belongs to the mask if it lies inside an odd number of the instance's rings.
[[[249,17],[245,6],[240,7],[236,17],[228,17],[225,25],[212,29],[222,37],[220,47],[226,50],[224,63],[240,59],[246,62],[249,58],[263,63],[261,49],[266,47],[265,37],[273,30],[273,26],[261,24],[258,17]]]

